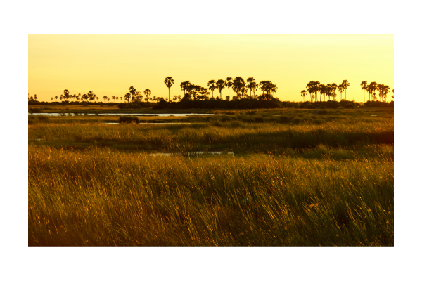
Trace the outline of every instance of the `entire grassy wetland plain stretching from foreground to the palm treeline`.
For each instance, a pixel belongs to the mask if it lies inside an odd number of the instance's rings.
[[[30,115],[28,244],[394,245],[393,109],[189,112]]]

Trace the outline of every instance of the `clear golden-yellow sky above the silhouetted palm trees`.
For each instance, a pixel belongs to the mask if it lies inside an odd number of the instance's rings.
[[[124,96],[129,86],[167,97],[164,79],[182,95],[182,81],[241,76],[278,86],[280,100],[301,101],[309,81],[350,82],[347,100],[363,101],[361,82],[394,89],[393,35],[29,35],[28,93],[41,101],[94,91]],[[227,96],[227,89],[222,91]],[[258,91],[259,93],[260,91]],[[214,95],[218,93],[215,90]],[[230,94],[232,96],[232,91]],[[392,100],[388,93],[388,101]],[[344,93],[343,93],[344,98]],[[340,93],[338,93],[338,100]],[[366,93],[365,100],[368,99]],[[309,100],[309,96],[305,97]]]

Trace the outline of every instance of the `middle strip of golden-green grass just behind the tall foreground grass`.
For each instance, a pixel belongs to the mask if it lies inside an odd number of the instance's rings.
[[[140,119],[141,121],[141,119]],[[123,150],[191,152],[197,150],[235,153],[362,147],[394,143],[393,123],[380,119],[364,122],[332,121],[324,124],[203,122],[193,124],[57,124],[36,123],[28,127],[31,142],[56,148],[108,146]],[[39,140],[42,141],[33,141]]]

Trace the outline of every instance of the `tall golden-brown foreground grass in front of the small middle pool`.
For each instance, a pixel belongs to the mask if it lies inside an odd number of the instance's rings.
[[[393,159],[29,147],[30,245],[393,245]]]

